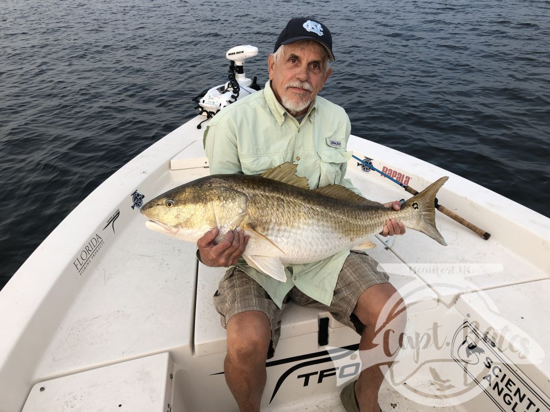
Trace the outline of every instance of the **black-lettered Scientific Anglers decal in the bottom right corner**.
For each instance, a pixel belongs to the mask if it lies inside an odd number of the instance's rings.
[[[494,342],[466,320],[453,336],[451,357],[503,412],[548,411],[548,397]]]

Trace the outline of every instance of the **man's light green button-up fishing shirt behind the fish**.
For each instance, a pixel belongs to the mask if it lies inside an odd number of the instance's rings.
[[[298,123],[277,101],[268,81],[265,89],[218,112],[206,127],[203,142],[213,175],[258,175],[290,162],[298,165],[296,174],[306,177],[311,189],[338,184],[360,194],[344,179],[351,158],[346,151],[350,131],[344,109],[319,96]],[[330,305],[348,254],[343,250],[315,263],[289,264],[285,283],[251,268],[243,259],[236,266],[260,283],[279,308],[294,286]]]

